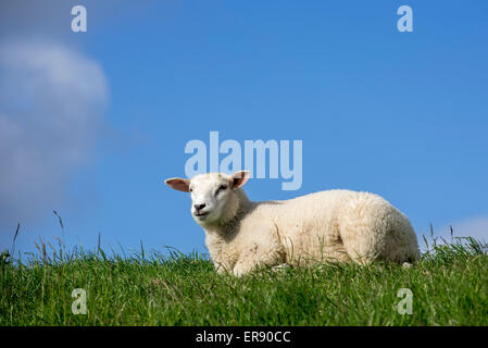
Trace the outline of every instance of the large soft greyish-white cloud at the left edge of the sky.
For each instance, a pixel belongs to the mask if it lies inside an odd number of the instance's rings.
[[[5,231],[63,199],[73,171],[92,156],[108,87],[99,64],[51,42],[0,44],[0,229]]]

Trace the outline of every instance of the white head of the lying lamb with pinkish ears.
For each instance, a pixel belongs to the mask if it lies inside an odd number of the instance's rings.
[[[249,172],[232,175],[199,174],[188,178],[173,177],[164,183],[171,188],[191,194],[191,214],[202,226],[222,224],[233,219],[245,194],[239,188],[247,183]]]

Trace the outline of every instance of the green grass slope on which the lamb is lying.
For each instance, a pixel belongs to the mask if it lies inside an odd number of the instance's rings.
[[[49,249],[49,247],[48,247]],[[0,325],[488,325],[487,246],[435,244],[413,268],[327,264],[216,274],[197,253],[66,252],[0,261]],[[72,313],[74,288],[86,315]],[[397,310],[412,290],[412,314]]]

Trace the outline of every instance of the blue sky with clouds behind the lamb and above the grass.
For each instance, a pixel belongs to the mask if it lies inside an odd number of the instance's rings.
[[[74,5],[87,32],[74,33]],[[399,32],[400,5],[413,32]],[[188,141],[302,141],[302,185],[385,197],[418,241],[488,241],[486,1],[0,3],[0,249],[207,252]],[[222,158],[221,158],[222,160]],[[59,224],[55,211],[62,219]]]

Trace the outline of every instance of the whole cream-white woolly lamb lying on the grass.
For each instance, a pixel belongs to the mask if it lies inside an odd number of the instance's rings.
[[[168,178],[191,194],[191,214],[205,232],[215,270],[242,276],[260,266],[324,262],[414,262],[418,245],[409,219],[384,198],[333,189],[284,201],[254,202],[249,172]]]

